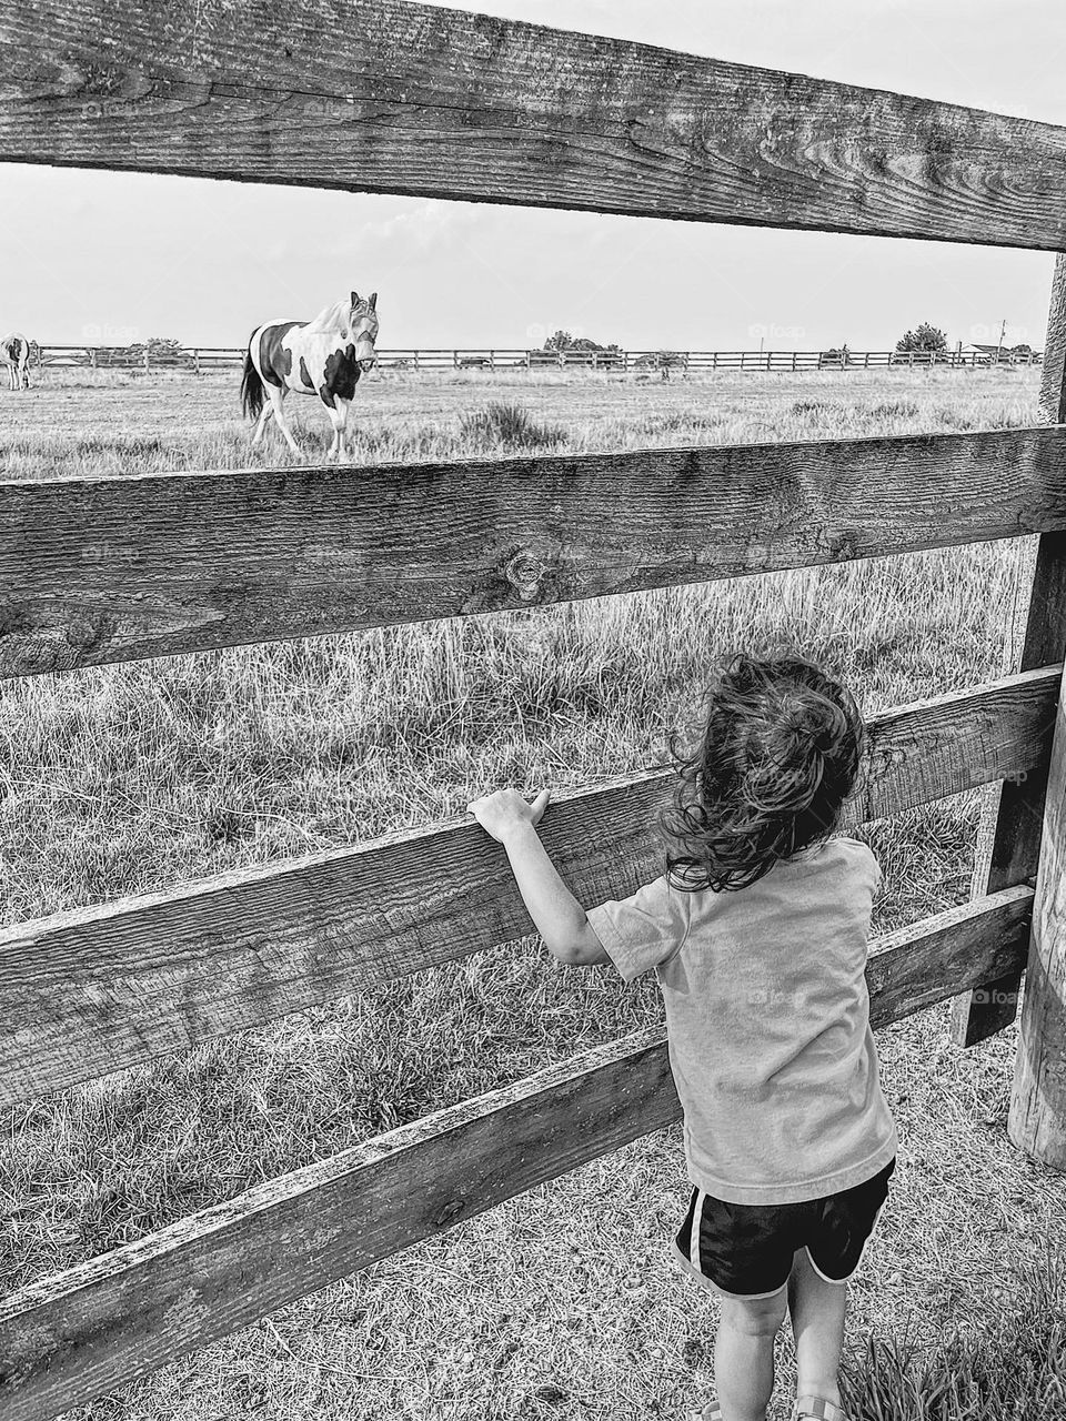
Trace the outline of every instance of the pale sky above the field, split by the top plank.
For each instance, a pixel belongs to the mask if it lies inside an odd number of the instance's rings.
[[[1066,125],[1062,0],[482,0],[482,13]],[[0,327],[242,345],[377,290],[378,348],[1043,345],[1053,257],[0,163]]]

